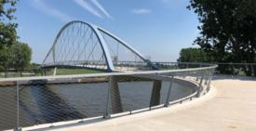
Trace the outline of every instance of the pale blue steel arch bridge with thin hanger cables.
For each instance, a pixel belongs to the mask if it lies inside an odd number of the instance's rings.
[[[115,34],[80,20],[61,28],[42,63],[42,68],[57,67],[104,72],[157,70],[153,62]]]

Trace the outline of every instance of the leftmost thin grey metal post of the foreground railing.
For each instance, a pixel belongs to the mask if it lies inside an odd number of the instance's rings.
[[[19,101],[20,101],[20,88],[19,88],[19,81],[16,82],[16,108],[17,108],[17,113],[16,113],[16,127],[15,127],[15,131],[21,131],[21,127],[20,127],[20,106],[19,106]]]

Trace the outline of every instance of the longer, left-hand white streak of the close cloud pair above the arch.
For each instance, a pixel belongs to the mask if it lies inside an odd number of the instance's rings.
[[[84,0],[74,0],[74,2],[80,6],[83,7],[85,10],[87,10],[90,14],[103,19],[103,17],[101,16],[101,14],[95,10],[93,7],[91,7],[90,5],[88,5],[88,3]]]

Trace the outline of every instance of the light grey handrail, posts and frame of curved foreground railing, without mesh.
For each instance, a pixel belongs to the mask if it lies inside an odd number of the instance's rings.
[[[204,67],[207,66],[207,67]],[[115,76],[121,76],[121,75],[128,75],[128,76],[138,76],[138,77],[143,77],[143,78],[151,78],[155,80],[164,80],[170,82],[169,87],[168,87],[168,97],[166,99],[165,104],[160,104],[157,106],[149,107],[146,109],[141,109],[140,111],[144,110],[152,110],[155,108],[159,107],[168,107],[171,104],[175,103],[182,103],[182,101],[186,99],[192,99],[194,97],[199,98],[201,95],[206,94],[209,89],[210,89],[210,81],[213,75],[213,72],[215,68],[217,68],[217,65],[204,65],[201,66],[200,68],[191,68],[191,69],[177,69],[177,70],[165,70],[165,71],[143,71],[143,72],[107,72],[107,73],[93,73],[93,74],[75,74],[75,75],[55,75],[55,76],[34,76],[34,77],[20,77],[20,78],[3,78],[0,79],[1,82],[16,82],[16,88],[17,88],[17,124],[15,130],[21,130],[20,127],[20,114],[19,114],[19,85],[20,83],[24,81],[31,81],[31,80],[65,80],[65,79],[79,79],[79,78],[90,78],[90,77],[110,77],[109,81],[109,89],[108,89],[108,99],[106,103],[106,110],[105,113],[103,114],[103,118],[110,118],[111,117],[111,112],[109,111],[109,104],[110,104],[110,94],[111,94],[111,86],[115,84],[115,79],[112,79]],[[178,80],[177,78],[174,78],[174,76],[178,75],[178,73],[185,73],[180,76],[180,80],[182,81],[188,81],[185,79],[185,77],[191,77],[191,73],[193,72],[201,72],[199,74],[196,74],[195,76],[195,81],[190,81],[189,83],[194,83],[196,85],[196,90],[193,94],[184,97],[184,98],[179,98],[174,101],[170,101],[169,96],[171,92],[171,87],[173,84],[173,81]],[[197,83],[196,83],[197,81]],[[205,83],[203,83],[205,81]],[[206,87],[203,87],[203,84],[207,85]],[[203,90],[206,90],[203,92]],[[131,113],[131,111],[130,111]]]

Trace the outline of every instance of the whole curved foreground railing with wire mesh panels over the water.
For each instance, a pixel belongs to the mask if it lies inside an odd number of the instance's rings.
[[[216,67],[0,79],[0,130],[109,118],[199,98],[209,92]]]

